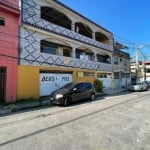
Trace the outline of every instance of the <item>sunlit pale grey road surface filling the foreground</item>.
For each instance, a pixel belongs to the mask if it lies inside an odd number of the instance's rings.
[[[0,150],[150,150],[150,91],[0,117]]]

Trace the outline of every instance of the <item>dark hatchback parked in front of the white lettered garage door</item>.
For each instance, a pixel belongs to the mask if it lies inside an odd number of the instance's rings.
[[[68,106],[83,99],[95,99],[95,88],[89,82],[71,82],[50,95],[52,104]]]

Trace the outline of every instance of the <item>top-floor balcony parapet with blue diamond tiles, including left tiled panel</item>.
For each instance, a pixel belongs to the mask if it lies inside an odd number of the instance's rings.
[[[29,4],[30,3],[30,4]],[[68,37],[70,39],[80,41],[97,48],[102,48],[108,51],[113,51],[113,46],[103,44],[94,39],[88,38],[81,34],[78,34],[74,31],[68,30],[61,26],[57,26],[51,22],[48,22],[40,17],[40,6],[35,6],[32,1],[26,1],[23,4],[22,11],[22,21],[26,24],[32,25],[34,27],[40,28],[42,30],[46,30],[48,32],[52,32],[64,37]]]

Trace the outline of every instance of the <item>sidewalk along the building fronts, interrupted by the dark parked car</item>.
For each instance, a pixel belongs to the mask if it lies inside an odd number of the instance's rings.
[[[107,89],[103,90],[103,93],[97,93],[97,97],[103,96],[103,95],[114,95],[117,93],[121,93],[126,91],[125,88],[121,89]],[[20,110],[27,110],[27,109],[33,109],[38,107],[44,107],[44,106],[51,106],[50,101],[48,98],[41,99],[40,101],[23,101],[23,102],[17,102],[12,104],[0,104],[0,116],[11,114],[12,112],[17,112]]]

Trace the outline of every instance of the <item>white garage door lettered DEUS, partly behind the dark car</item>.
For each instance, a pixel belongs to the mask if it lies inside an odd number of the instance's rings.
[[[71,81],[72,74],[69,73],[40,73],[40,96],[48,96]]]

